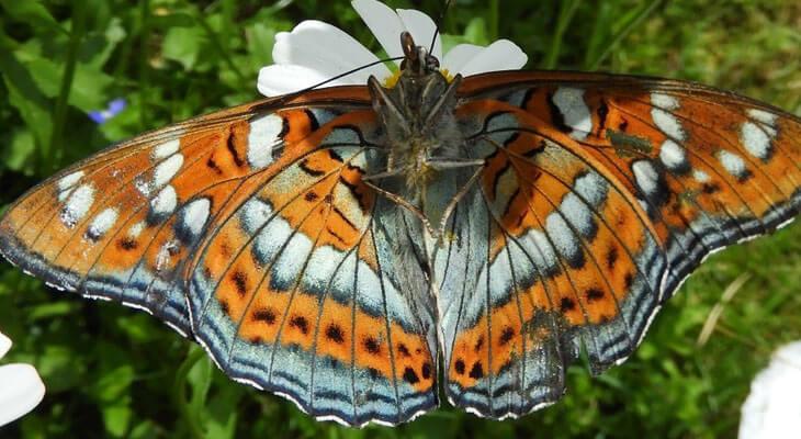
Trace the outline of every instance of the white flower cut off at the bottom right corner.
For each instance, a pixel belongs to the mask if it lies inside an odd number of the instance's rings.
[[[798,438],[801,431],[801,341],[774,353],[751,383],[740,419],[740,439]]]

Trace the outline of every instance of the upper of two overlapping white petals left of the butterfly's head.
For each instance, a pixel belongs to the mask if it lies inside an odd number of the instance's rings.
[[[342,30],[315,20],[275,35],[272,57],[275,64],[303,66],[329,77],[379,60]]]

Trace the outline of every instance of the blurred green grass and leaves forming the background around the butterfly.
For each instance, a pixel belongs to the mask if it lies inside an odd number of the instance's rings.
[[[437,15],[439,0],[392,1]],[[529,67],[602,69],[701,81],[801,113],[801,4],[794,0],[459,0],[447,44],[509,37]],[[533,4],[532,4],[533,3]],[[0,195],[146,130],[257,98],[277,32],[304,19],[377,49],[347,1],[0,0]],[[114,98],[103,125],[86,115]],[[399,428],[316,423],[229,381],[148,315],[55,292],[0,267],[0,328],[31,362],[44,402],[2,434],[53,437],[733,437],[753,375],[801,338],[801,226],[707,261],[624,365],[520,420],[441,408]],[[737,285],[742,285],[735,290]],[[722,301],[724,291],[736,292]],[[731,295],[731,294],[730,294]],[[717,305],[722,314],[698,342]]]

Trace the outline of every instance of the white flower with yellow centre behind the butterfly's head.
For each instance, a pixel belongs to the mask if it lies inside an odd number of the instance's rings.
[[[353,0],[352,5],[392,58],[403,57],[400,33],[404,31],[411,34],[416,44],[425,47],[429,47],[433,40],[437,25],[420,11],[393,11],[376,0]],[[438,37],[431,55],[440,60],[442,70],[462,76],[519,69],[528,59],[520,47],[508,40],[498,40],[487,47],[460,44],[443,57],[442,42]],[[275,64],[259,71],[258,89],[267,97],[303,90],[379,60],[352,36],[315,20],[301,22],[292,32],[275,35],[272,58]],[[399,60],[396,63],[399,64]],[[371,75],[385,82],[393,72],[385,65],[376,64],[328,82],[326,87],[363,86]]]

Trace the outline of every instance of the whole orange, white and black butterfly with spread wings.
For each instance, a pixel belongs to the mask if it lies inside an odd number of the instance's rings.
[[[114,145],[33,188],[0,251],[142,308],[320,419],[552,404],[624,361],[688,274],[801,209],[801,120],[571,71],[308,90]],[[440,383],[441,380],[441,383]]]

